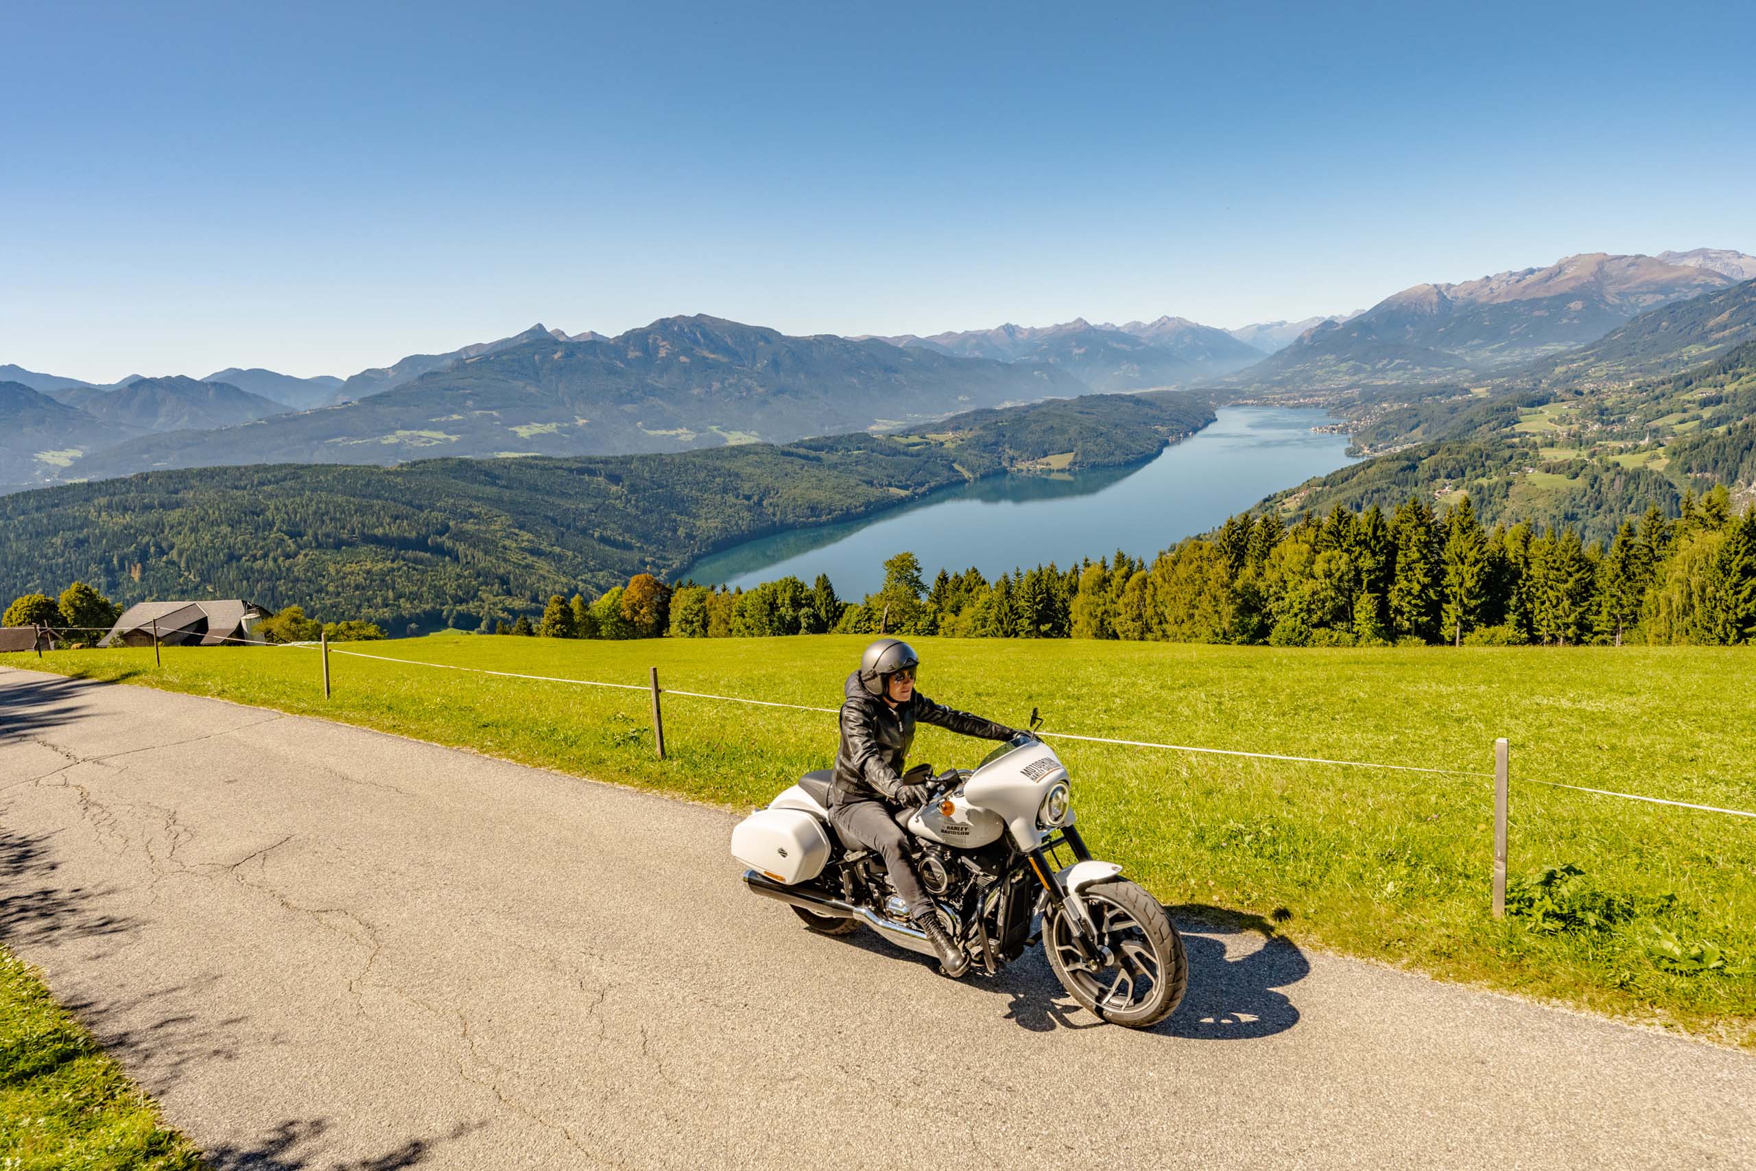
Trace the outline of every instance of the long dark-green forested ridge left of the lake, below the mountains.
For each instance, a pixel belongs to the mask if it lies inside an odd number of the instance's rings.
[[[478,627],[550,593],[667,574],[723,544],[850,520],[1008,469],[1148,458],[1206,400],[1094,395],[936,423],[676,455],[148,472],[0,499],[0,593],[68,581],[320,616]]]

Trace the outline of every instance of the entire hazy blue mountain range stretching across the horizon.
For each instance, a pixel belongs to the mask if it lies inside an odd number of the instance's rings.
[[[0,449],[0,490],[165,467],[788,442],[1159,386],[1312,402],[1377,427],[1461,388],[1500,393],[1512,377],[1524,388],[1563,386],[1587,376],[1586,362],[1607,362],[1616,376],[1670,370],[1679,355],[1663,334],[1630,334],[1616,342],[1623,349],[1598,358],[1580,346],[1616,337],[1645,311],[1726,291],[1745,272],[1756,272],[1756,258],[1731,249],[1589,253],[1417,284],[1350,316],[1238,330],[1177,316],[927,337],[790,337],[708,316],[664,318],[615,339],[534,325],[346,379],[228,367],[205,379],[130,376],[95,386],[9,365],[0,379],[76,413],[56,414],[16,390],[0,400],[0,428],[14,432]],[[1691,355],[1709,349],[1702,342]]]

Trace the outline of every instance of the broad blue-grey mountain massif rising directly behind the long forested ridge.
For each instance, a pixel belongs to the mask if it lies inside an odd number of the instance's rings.
[[[86,455],[72,474],[681,451],[788,442],[1087,392],[1055,365],[954,358],[871,339],[788,337],[706,316],[664,318],[611,341],[558,339],[543,327],[520,337],[353,402],[242,427],[142,435]]]

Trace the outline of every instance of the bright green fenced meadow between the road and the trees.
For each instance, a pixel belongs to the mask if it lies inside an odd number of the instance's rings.
[[[307,648],[61,651],[40,665],[474,748],[734,809],[834,751],[834,718],[414,665],[836,706],[864,637],[550,641],[439,634]],[[918,639],[922,690],[1048,730],[1489,772],[1512,741],[1514,890],[1489,916],[1491,781],[1059,741],[1087,841],[1168,904],[1292,939],[1756,1048],[1756,820],[1521,783],[1756,809],[1756,658],[1740,648],[1271,650]],[[32,655],[0,657],[37,667]],[[934,729],[918,758],[985,748]],[[1579,873],[1575,874],[1573,867]],[[732,866],[727,862],[727,881]]]

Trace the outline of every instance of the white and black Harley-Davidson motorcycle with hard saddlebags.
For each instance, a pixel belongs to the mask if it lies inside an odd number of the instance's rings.
[[[818,934],[864,923],[932,955],[883,858],[829,823],[832,776],[806,772],[738,823],[732,857],[750,867],[745,883],[790,904]],[[1092,858],[1073,825],[1068,771],[1048,744],[1020,732],[975,769],[929,783],[934,797],[896,818],[911,834],[917,873],[969,971],[992,976],[1041,941],[1055,978],[1098,1017],[1145,1029],[1177,1009],[1189,983],[1184,941],[1120,866]],[[1071,864],[1059,864],[1061,850]]]

